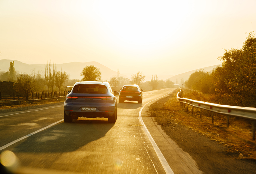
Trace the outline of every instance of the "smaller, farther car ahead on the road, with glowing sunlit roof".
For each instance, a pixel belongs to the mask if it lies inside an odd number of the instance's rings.
[[[120,103],[123,103],[125,100],[142,103],[141,91],[143,90],[139,88],[139,85],[123,85],[123,88],[120,89],[118,100]]]

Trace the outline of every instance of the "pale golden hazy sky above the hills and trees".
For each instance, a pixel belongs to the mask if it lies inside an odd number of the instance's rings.
[[[256,32],[255,0],[0,0],[0,59],[176,75]]]

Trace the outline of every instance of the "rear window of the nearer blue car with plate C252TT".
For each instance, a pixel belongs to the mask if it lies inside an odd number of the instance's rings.
[[[108,88],[100,84],[78,84],[73,88],[73,93],[76,94],[106,94]]]

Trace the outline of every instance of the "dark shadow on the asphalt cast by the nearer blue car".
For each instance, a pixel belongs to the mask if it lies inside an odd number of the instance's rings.
[[[55,153],[75,151],[104,137],[113,126],[113,123],[104,120],[62,122],[28,137],[15,148],[15,152]]]

